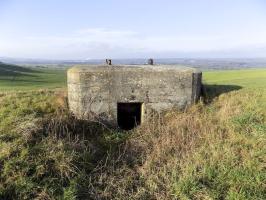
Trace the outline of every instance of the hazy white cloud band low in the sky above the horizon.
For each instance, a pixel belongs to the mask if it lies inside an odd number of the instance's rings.
[[[162,55],[210,55],[212,52],[241,52],[247,49],[265,49],[265,33],[249,31],[230,35],[158,35],[130,30],[88,28],[69,34],[54,36],[27,36],[2,40],[0,51],[8,56],[86,59],[86,58],[132,58]],[[265,53],[265,52],[264,52]],[[167,56],[168,55],[168,56]]]

